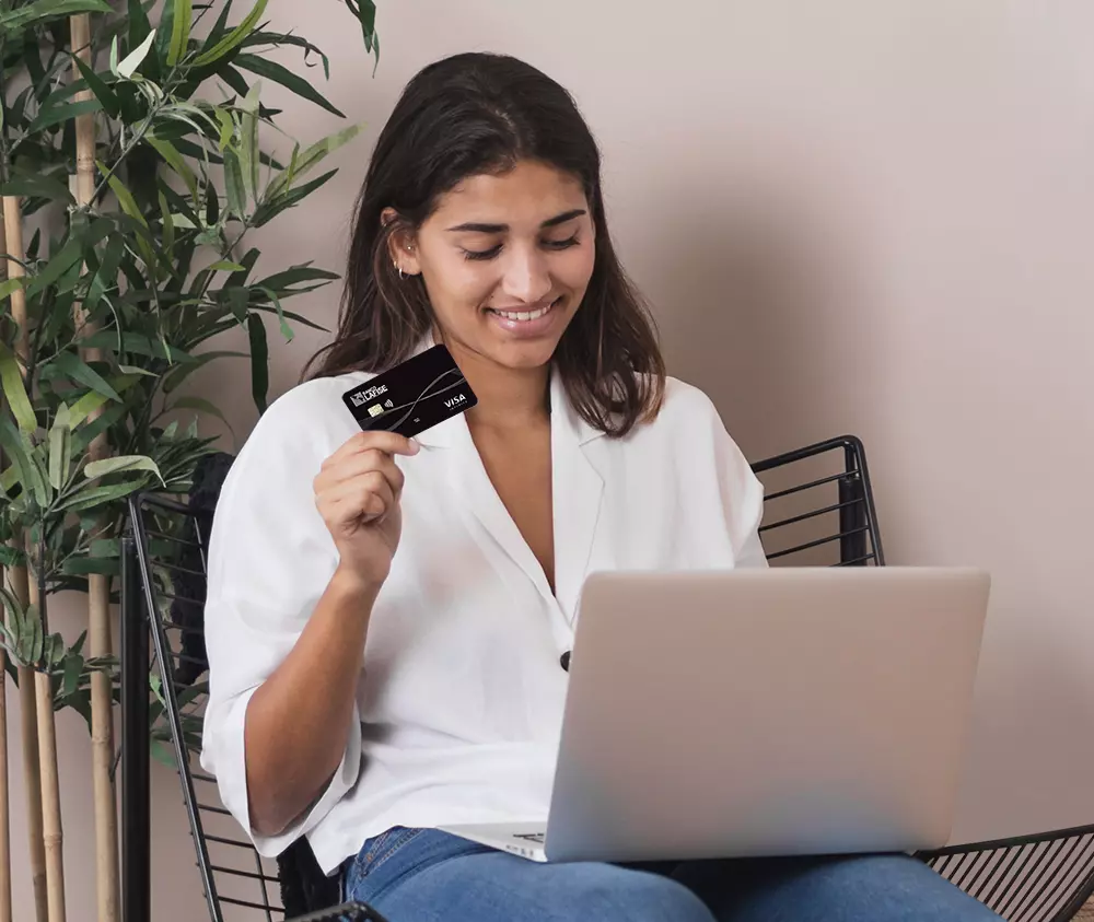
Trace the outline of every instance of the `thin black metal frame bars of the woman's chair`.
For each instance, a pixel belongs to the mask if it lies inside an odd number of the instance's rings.
[[[824,514],[838,513],[839,532],[818,540],[807,541],[787,550],[769,555],[769,559],[789,557],[793,553],[810,550],[822,545],[839,542],[839,562],[834,565],[883,565],[885,562],[882,549],[881,534],[874,507],[873,490],[866,466],[865,450],[862,442],[846,435],[819,442],[803,448],[767,458],[753,465],[756,474],[764,474],[776,468],[804,462],[828,453],[842,454],[843,470],[839,474],[812,480],[785,490],[770,493],[766,501],[772,501],[791,493],[823,487],[836,482],[838,500],[836,503],[821,510],[810,511],[778,522],[765,524],[761,532],[768,533],[780,527],[794,525]],[[154,587],[151,579],[152,561],[149,555],[149,540],[141,514],[143,505],[154,505],[168,512],[183,515],[193,513],[188,507],[173,500],[137,494],[129,500],[129,518],[121,540],[121,909],[124,922],[151,922],[151,822],[150,822],[150,730],[149,730],[149,688],[148,663],[149,655],[154,651],[155,660],[161,669],[163,695],[167,702],[166,716],[171,726],[175,759],[178,765],[178,775],[183,786],[190,833],[197,852],[197,864],[202,888],[209,908],[210,919],[222,922],[216,883],[210,867],[209,852],[202,832],[201,818],[198,813],[198,802],[194,789],[193,773],[189,768],[186,743],[183,735],[178,713],[175,685],[166,670],[165,664],[171,662],[170,647],[160,618],[149,617],[156,611]],[[150,649],[151,642],[151,649]],[[1086,866],[1079,866],[1083,852],[1074,855],[1076,849],[1085,841],[1087,850]],[[1051,915],[1027,918],[1032,909],[1037,908],[1049,885],[1051,875],[1059,871],[1046,868],[1040,876],[1033,875],[1038,871],[1052,845],[1058,845],[1052,861],[1063,851],[1067,842],[1071,850],[1063,862],[1071,860],[1069,873],[1078,876],[1068,884],[1069,889],[1054,897],[1054,906],[1059,907]],[[1038,849],[1045,849],[1038,853]],[[1014,868],[1017,859],[1025,853],[1025,861],[1014,873],[1010,882],[1003,886],[1003,878],[996,879],[993,875],[1003,866],[1008,855],[1011,856],[1004,876]],[[1024,876],[1025,870],[1034,855],[1034,861]],[[999,906],[1003,897],[1008,905],[1020,896],[1022,914],[1013,922],[1067,922],[1083,907],[1087,899],[1094,896],[1094,825],[1060,829],[1034,836],[1023,836],[1011,839],[976,842],[963,845],[952,845],[930,852],[919,852],[916,857],[923,861],[941,875],[953,880],[957,886],[969,885],[969,888],[980,883],[979,892],[994,879],[988,898]],[[257,855],[256,855],[257,859]],[[984,872],[994,865],[987,879],[981,880]],[[1050,862],[1051,864],[1051,862]],[[976,870],[975,876],[969,875]],[[1047,879],[1046,879],[1047,878]],[[1016,888],[1015,880],[1020,880]],[[1039,889],[1036,889],[1039,886]],[[264,884],[265,886],[265,884]],[[1000,887],[1003,886],[1002,892]],[[1027,905],[1031,894],[1036,896]],[[987,899],[985,900],[987,901]],[[989,903],[990,905],[990,903]],[[272,919],[267,910],[267,918]],[[1004,917],[1006,918],[1006,917]],[[307,915],[298,917],[291,922],[384,922],[383,918],[368,906],[348,903],[331,907]]]

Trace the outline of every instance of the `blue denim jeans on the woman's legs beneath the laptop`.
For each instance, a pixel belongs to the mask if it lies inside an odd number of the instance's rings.
[[[396,827],[347,862],[346,899],[388,922],[988,922],[906,855],[538,864]]]

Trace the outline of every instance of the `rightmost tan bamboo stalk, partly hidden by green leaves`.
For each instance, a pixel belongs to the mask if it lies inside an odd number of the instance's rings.
[[[91,17],[88,13],[69,20],[72,32],[72,50],[84,63],[91,63]],[[73,80],[80,78],[72,65]],[[75,95],[75,100],[92,98],[90,91]],[[90,205],[95,191],[95,116],[88,114],[75,119],[75,199],[80,206]],[[83,304],[73,306],[75,328],[83,337],[95,332],[83,311]],[[102,359],[100,349],[81,349],[88,363]],[[93,412],[89,421],[101,416],[104,408]],[[92,460],[109,454],[106,433],[95,437],[88,447]],[[88,640],[93,657],[110,654],[110,581],[108,576],[93,573],[88,577]],[[114,760],[114,700],[110,676],[91,674],[91,769],[95,798],[95,865],[98,898],[98,922],[117,922],[119,906],[118,825],[117,801],[110,766]]]

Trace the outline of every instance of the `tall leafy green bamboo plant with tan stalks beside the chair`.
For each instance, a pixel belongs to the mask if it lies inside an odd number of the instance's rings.
[[[379,56],[374,4],[344,2]],[[318,48],[263,21],[266,3],[236,22],[232,0],[0,0],[0,645],[22,699],[37,922],[66,918],[54,728],[65,707],[92,734],[97,918],[118,918],[109,612],[125,500],[189,489],[214,451],[199,420],[224,418],[186,383],[210,362],[249,361],[264,411],[267,322],[287,340],[292,323],[317,327],[284,302],[338,278],[306,261],[260,272],[245,244],[327,183],[336,171],[318,167],[359,131],[306,145],[280,131],[264,82],[345,116],[271,59],[291,46],[329,75]],[[218,349],[236,327],[246,350]],[[74,643],[48,621],[66,591],[88,597]],[[0,695],[0,730],[5,720]],[[5,740],[0,922],[12,918]]]

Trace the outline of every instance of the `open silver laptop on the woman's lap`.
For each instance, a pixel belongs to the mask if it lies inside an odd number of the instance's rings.
[[[989,588],[951,568],[590,574],[548,814],[443,828],[539,862],[945,845]]]

